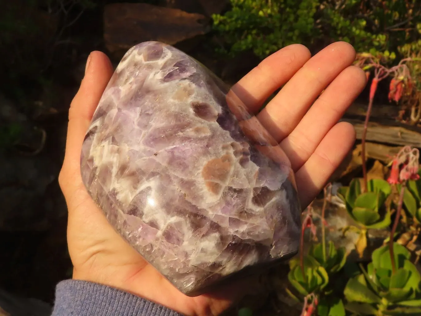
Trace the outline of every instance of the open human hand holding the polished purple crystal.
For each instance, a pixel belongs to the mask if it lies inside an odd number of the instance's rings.
[[[334,43],[310,57],[304,46],[287,46],[232,87],[250,112],[258,112],[283,86],[256,116],[288,156],[303,208],[352,147],[353,127],[337,122],[366,83],[365,73],[351,66],[355,51],[347,43]],[[82,183],[83,139],[112,72],[106,55],[91,53],[85,78],[69,110],[59,183],[69,209],[67,238],[73,279],[122,289],[185,315],[217,315],[242,293],[228,286],[217,293],[183,295],[109,225]]]

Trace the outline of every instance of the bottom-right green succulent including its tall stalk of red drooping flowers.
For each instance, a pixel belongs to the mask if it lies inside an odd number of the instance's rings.
[[[376,249],[367,270],[346,284],[346,309],[357,315],[419,315],[421,313],[421,275],[410,261],[410,251],[394,242],[402,214],[402,203],[409,180],[419,179],[419,151],[403,147],[392,163],[388,182],[399,188],[399,200],[388,245]],[[368,189],[372,189],[368,185]]]

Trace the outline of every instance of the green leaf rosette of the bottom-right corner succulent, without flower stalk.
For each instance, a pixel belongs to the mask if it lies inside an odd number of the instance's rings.
[[[421,276],[410,262],[410,252],[394,243],[393,257],[388,246],[381,246],[367,270],[361,266],[362,273],[349,279],[344,290],[348,311],[376,316],[421,313]]]

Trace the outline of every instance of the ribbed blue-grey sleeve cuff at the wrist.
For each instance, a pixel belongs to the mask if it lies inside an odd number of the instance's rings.
[[[65,280],[56,287],[51,316],[181,316],[119,289],[79,280]]]

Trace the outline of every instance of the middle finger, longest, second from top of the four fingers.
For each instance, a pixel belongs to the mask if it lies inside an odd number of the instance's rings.
[[[298,125],[320,93],[355,60],[354,48],[346,42],[330,44],[296,72],[281,91],[257,115],[277,142]]]

